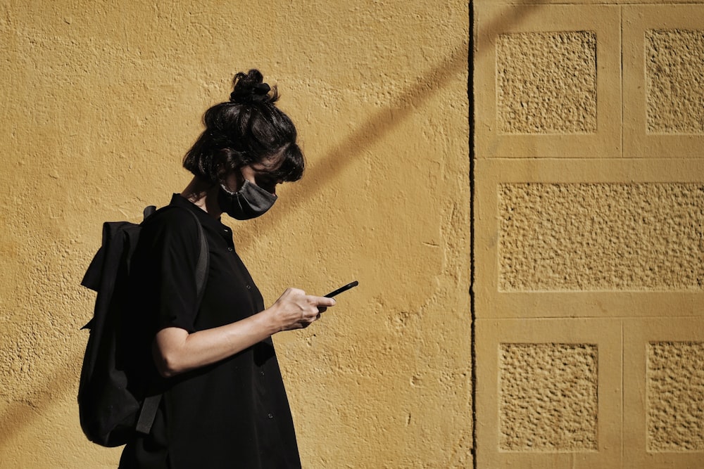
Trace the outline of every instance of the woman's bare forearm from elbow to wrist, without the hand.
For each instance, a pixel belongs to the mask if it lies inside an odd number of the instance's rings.
[[[156,334],[153,359],[159,373],[170,377],[226,359],[279,330],[267,310],[194,333],[182,328],[164,328]]]

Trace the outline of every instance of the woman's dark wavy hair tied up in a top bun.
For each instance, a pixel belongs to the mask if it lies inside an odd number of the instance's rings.
[[[282,158],[270,174],[279,181],[298,181],[305,162],[296,143],[296,127],[276,107],[279,99],[263,82],[259,70],[239,72],[232,79],[230,101],[214,105],[203,115],[206,129],[183,159],[184,168],[199,178],[220,184],[230,172]]]

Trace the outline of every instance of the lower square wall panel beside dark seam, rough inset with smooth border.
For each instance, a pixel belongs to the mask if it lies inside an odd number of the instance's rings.
[[[621,322],[478,319],[481,468],[622,468]]]

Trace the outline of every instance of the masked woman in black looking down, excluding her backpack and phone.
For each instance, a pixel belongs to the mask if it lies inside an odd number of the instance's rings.
[[[125,361],[163,392],[149,435],[122,451],[122,468],[296,468],[296,436],[270,336],[304,328],[335,304],[289,288],[269,308],[234,250],[222,212],[251,219],[276,186],[303,174],[296,129],[258,70],[234,77],[230,101],[206,111],[184,158],[194,174],[170,208],[144,222],[132,264],[134,347]],[[180,207],[177,210],[175,207]],[[209,267],[194,279],[200,241]],[[155,378],[156,377],[156,378]]]

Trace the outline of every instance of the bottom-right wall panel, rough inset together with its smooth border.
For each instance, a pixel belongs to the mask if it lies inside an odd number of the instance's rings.
[[[702,309],[703,302],[699,302]],[[624,319],[624,461],[631,468],[701,468],[704,319]]]

